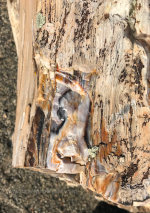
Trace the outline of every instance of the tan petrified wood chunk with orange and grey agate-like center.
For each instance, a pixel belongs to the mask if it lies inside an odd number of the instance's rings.
[[[149,0],[8,0],[19,58],[13,166],[150,201]]]

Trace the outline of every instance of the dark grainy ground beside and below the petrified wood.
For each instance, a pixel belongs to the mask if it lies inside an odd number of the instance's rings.
[[[98,202],[81,187],[11,166],[16,109],[17,56],[6,8],[0,0],[0,213],[125,213],[115,206]]]

